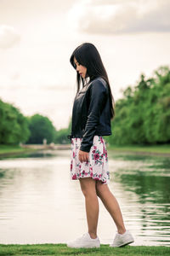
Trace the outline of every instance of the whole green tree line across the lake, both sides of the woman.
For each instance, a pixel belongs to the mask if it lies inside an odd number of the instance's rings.
[[[116,116],[111,120],[110,144],[170,143],[170,70],[159,67],[152,78],[140,75],[116,101]],[[0,99],[0,144],[70,143],[71,119],[65,129],[56,130],[48,117],[38,113],[24,116],[19,108]]]

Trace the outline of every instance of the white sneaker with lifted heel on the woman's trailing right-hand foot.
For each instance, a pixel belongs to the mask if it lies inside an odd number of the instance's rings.
[[[110,247],[123,247],[133,241],[134,239],[130,231],[126,230],[126,232],[123,234],[116,233],[116,236],[113,240],[113,243],[110,245]]]

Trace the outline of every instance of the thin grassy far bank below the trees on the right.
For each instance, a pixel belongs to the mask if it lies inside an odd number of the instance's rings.
[[[170,144],[142,146],[142,145],[124,145],[124,146],[108,146],[109,150],[121,152],[137,152],[137,153],[151,153],[151,154],[170,154]]]

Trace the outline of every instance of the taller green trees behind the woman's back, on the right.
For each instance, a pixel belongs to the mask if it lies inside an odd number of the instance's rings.
[[[159,67],[152,78],[140,75],[116,101],[111,144],[170,143],[170,70]]]

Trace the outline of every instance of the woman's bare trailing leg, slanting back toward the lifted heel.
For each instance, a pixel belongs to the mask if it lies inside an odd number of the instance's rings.
[[[96,181],[96,193],[105,205],[105,208],[110,212],[111,217],[115,221],[117,230],[119,234],[123,234],[126,229],[122,219],[122,212],[116,201],[115,196],[111,193],[107,184],[101,183],[101,181]]]

